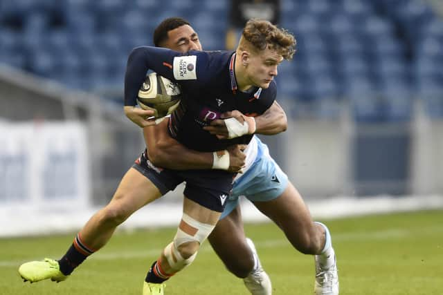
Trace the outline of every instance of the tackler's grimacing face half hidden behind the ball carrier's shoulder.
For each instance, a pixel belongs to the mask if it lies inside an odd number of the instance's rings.
[[[199,36],[188,25],[174,28],[168,32],[168,39],[161,44],[162,47],[187,53],[189,50],[201,50]]]

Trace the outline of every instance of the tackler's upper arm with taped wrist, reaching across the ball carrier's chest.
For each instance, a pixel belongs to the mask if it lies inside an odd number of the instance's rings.
[[[221,115],[204,129],[219,139],[228,139],[245,134],[274,135],[287,129],[287,117],[283,108],[274,101],[262,115],[248,117],[240,111],[230,111]]]

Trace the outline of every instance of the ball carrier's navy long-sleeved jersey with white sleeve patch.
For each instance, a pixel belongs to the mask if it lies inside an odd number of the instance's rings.
[[[275,82],[268,88],[255,87],[245,93],[237,89],[232,51],[190,51],[179,53],[167,48],[142,46],[129,55],[125,75],[125,105],[134,106],[138,89],[148,70],[178,83],[183,95],[172,113],[172,137],[197,151],[219,151],[232,144],[247,144],[252,135],[219,140],[202,129],[226,111],[238,110],[256,116],[275,100]]]

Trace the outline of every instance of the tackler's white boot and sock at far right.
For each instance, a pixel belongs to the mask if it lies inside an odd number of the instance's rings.
[[[319,255],[314,256],[316,262],[316,295],[338,295],[338,271],[334,249],[327,258],[325,265],[320,264]]]

